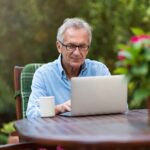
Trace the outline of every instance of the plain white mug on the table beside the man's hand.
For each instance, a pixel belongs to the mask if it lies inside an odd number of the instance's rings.
[[[41,117],[55,116],[55,97],[54,96],[40,97],[39,108]]]

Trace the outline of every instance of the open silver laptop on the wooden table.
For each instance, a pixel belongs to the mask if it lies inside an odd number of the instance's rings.
[[[71,78],[71,112],[63,116],[87,116],[127,111],[124,75]]]

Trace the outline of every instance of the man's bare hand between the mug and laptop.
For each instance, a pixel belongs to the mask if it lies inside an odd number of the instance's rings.
[[[63,104],[59,104],[55,106],[55,113],[60,114],[66,111],[71,111],[71,101],[68,100]]]

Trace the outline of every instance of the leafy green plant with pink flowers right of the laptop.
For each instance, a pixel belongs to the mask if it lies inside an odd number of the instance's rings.
[[[150,33],[133,28],[127,44],[118,45],[115,73],[125,74],[129,83],[129,107],[150,108]]]

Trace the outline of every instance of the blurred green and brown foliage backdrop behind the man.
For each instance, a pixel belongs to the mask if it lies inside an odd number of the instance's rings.
[[[132,36],[132,27],[150,30],[150,1],[0,0],[0,127],[16,119],[13,67],[56,59],[57,28],[68,17],[81,17],[92,26],[88,57],[113,73],[117,43]]]

